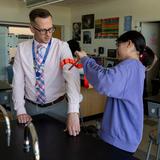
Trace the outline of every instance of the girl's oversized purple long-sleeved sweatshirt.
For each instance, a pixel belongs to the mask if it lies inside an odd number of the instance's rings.
[[[135,152],[143,132],[145,67],[135,59],[109,69],[89,57],[81,62],[89,83],[107,96],[100,137],[117,148]]]

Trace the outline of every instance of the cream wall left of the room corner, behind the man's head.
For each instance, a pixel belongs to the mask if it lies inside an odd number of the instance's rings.
[[[53,16],[53,23],[64,26],[64,39],[70,39],[71,9],[54,5],[44,6]],[[0,21],[29,23],[27,8],[23,0],[0,0]]]

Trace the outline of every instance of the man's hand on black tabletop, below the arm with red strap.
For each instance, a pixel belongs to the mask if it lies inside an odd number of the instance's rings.
[[[67,130],[69,135],[77,136],[80,132],[80,122],[78,113],[69,113],[67,117]]]

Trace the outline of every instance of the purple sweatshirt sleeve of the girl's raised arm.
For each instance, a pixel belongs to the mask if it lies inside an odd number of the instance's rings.
[[[81,62],[84,74],[97,92],[109,97],[123,98],[127,82],[127,69],[123,64],[107,69],[87,56],[83,57]]]

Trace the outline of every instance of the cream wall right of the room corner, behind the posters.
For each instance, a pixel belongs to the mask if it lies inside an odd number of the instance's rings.
[[[159,0],[106,0],[97,4],[76,6],[72,8],[72,23],[81,22],[82,15],[95,14],[95,19],[120,17],[119,34],[124,32],[124,16],[132,16],[132,29],[141,30],[139,22],[160,21],[160,1]],[[94,39],[94,29],[92,32],[92,44],[81,46],[89,53],[99,46],[115,48],[115,39]],[[81,33],[82,39],[82,33]],[[107,51],[107,50],[106,50]]]

